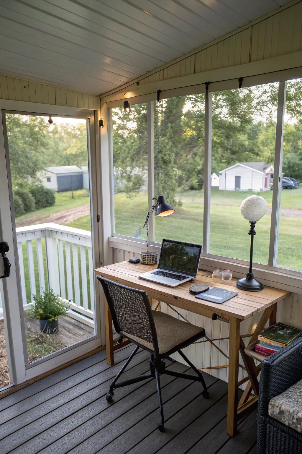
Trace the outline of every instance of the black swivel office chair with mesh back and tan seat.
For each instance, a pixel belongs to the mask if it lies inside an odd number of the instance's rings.
[[[198,339],[201,339],[201,337],[204,337],[206,335],[205,330],[199,326],[178,320],[163,312],[152,311],[147,293],[143,290],[127,287],[101,276],[97,276],[97,279],[103,286],[115,331],[136,345],[128,360],[111,383],[106,400],[107,402],[112,402],[113,390],[115,388],[132,385],[133,383],[151,377],[155,378],[161,415],[161,422],[158,424],[158,429],[160,432],[164,432],[163,403],[159,382],[160,374],[200,381],[203,386],[203,397],[205,399],[209,399],[210,397],[201,372],[187,359],[181,350]],[[149,361],[150,372],[117,383],[120,375],[132,360],[137,350],[139,350],[139,347],[151,353],[151,359]],[[197,373],[197,376],[180,374],[165,369],[163,359],[176,351],[192,367]]]

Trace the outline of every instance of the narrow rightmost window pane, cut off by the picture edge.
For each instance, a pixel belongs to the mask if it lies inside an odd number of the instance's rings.
[[[277,265],[302,271],[302,79],[289,80],[284,115]],[[301,183],[300,183],[301,182]]]

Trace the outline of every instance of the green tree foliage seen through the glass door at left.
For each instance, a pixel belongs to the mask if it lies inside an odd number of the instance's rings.
[[[87,165],[86,123],[56,123],[36,115],[6,115],[13,188],[39,183],[45,167]]]

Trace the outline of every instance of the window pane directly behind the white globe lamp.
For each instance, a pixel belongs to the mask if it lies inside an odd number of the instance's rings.
[[[268,211],[256,225],[254,261],[268,264],[277,94],[278,84],[212,94],[211,254],[249,260],[249,222],[239,207],[261,195]]]

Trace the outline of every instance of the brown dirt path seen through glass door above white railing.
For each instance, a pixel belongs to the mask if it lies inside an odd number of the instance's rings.
[[[80,207],[69,208],[53,214],[32,215],[16,220],[16,227],[31,226],[42,224],[43,222],[54,222],[56,224],[68,224],[78,217],[87,216],[90,214],[90,204],[81,205]]]

